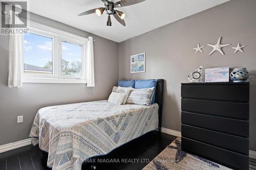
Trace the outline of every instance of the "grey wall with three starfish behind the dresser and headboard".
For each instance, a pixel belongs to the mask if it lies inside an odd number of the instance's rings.
[[[193,16],[170,23],[119,44],[120,79],[165,79],[163,127],[181,130],[180,83],[188,82],[190,71],[229,66],[246,67],[250,77],[250,150],[256,151],[256,1],[230,1]],[[216,44],[222,36],[225,55],[215,52],[207,43]],[[205,45],[204,53],[192,50]],[[238,42],[247,45],[244,53],[233,54]],[[146,72],[130,74],[130,56],[146,52]],[[234,91],[235,92],[235,91]]]

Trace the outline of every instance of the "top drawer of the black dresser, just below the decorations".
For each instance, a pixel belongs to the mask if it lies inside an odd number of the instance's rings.
[[[182,98],[249,102],[249,86],[245,85],[182,85]]]

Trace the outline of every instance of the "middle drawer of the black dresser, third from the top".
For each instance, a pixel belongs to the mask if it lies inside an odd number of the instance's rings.
[[[181,112],[182,124],[248,137],[249,122],[204,114]]]

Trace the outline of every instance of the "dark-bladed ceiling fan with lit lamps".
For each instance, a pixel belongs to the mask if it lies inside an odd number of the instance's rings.
[[[101,0],[101,1],[104,3],[105,7],[91,9],[86,12],[80,13],[78,16],[89,15],[92,13],[96,13],[98,16],[100,16],[103,14],[104,11],[106,11],[106,14],[109,15],[108,20],[106,21],[107,26],[112,25],[110,15],[113,15],[116,18],[116,20],[119,23],[121,23],[121,25],[126,26],[125,21],[123,20],[123,18],[125,17],[125,14],[122,11],[116,10],[115,8],[138,4],[146,0],[121,0],[116,3],[114,3],[113,0],[109,0],[109,1]]]

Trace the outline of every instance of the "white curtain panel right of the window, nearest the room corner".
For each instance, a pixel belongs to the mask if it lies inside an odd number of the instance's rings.
[[[94,55],[93,55],[93,37],[87,41],[87,87],[94,87]]]

